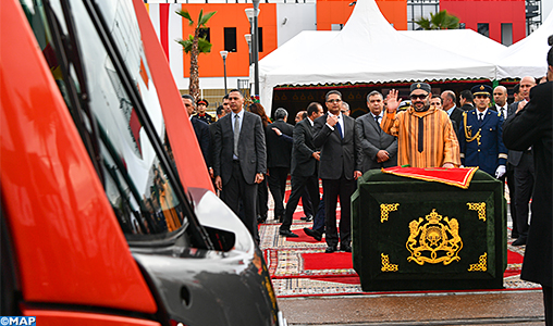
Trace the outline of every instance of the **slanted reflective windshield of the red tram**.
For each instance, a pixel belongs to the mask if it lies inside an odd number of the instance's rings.
[[[130,240],[146,240],[151,239],[145,237],[148,235],[159,238],[187,227],[186,199],[179,180],[170,177],[172,161],[163,150],[170,149],[170,145],[140,30],[136,20],[124,15],[134,12],[132,4],[105,1],[99,7],[111,18],[106,22],[106,28],[120,52],[118,57],[105,48],[97,30],[100,27],[95,26],[83,2],[71,0],[70,3],[72,13],[67,16],[59,1],[51,4],[60,34],[67,36],[71,25],[66,22],[74,24],[75,49],[82,60],[76,51],[64,53],[67,61],[59,65],[66,65],[67,75],[62,73],[57,82],[83,141],[87,145],[93,139],[98,145],[87,149],[93,162],[98,163],[106,196],[123,233]],[[42,12],[37,16],[46,15]],[[29,23],[38,35],[50,32],[46,22],[32,20]],[[41,48],[57,42],[56,39],[45,38]],[[66,39],[70,42],[72,37]],[[65,49],[53,46],[58,51]],[[58,62],[50,60],[49,64],[58,65]],[[89,102],[78,100],[84,92]],[[96,156],[99,159],[95,160]]]

